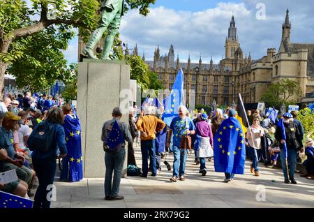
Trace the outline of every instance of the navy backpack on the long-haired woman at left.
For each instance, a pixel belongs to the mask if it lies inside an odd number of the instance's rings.
[[[46,152],[54,145],[54,125],[48,121],[42,121],[34,128],[28,140],[29,149]]]

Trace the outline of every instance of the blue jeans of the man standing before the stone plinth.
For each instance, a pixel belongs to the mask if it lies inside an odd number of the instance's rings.
[[[124,168],[124,159],[126,158],[126,149],[122,148],[117,154],[105,153],[105,195],[117,197],[119,195],[122,170]],[[112,181],[112,172],[114,177]]]

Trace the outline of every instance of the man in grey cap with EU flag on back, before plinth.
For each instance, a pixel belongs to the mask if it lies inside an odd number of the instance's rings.
[[[128,125],[120,121],[122,113],[119,107],[112,110],[112,119],[105,121],[101,131],[101,140],[105,151],[105,200],[123,200],[119,195],[122,170],[126,158],[126,141],[133,142]],[[115,135],[114,135],[115,134]],[[114,139],[113,139],[114,138]],[[117,142],[114,142],[114,141]],[[112,172],[114,177],[112,180]]]

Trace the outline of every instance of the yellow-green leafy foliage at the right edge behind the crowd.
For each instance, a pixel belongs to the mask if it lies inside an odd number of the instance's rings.
[[[306,137],[314,139],[314,112],[311,112],[309,108],[300,110],[297,119],[301,121],[304,128],[304,140],[306,140]]]

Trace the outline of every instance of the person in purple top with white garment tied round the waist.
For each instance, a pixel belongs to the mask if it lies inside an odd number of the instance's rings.
[[[214,139],[211,126],[207,124],[207,114],[203,112],[199,118],[200,121],[195,125],[196,141],[194,150],[196,157],[200,158],[200,173],[202,173],[202,176],[205,176],[207,173],[206,158],[214,156]]]

